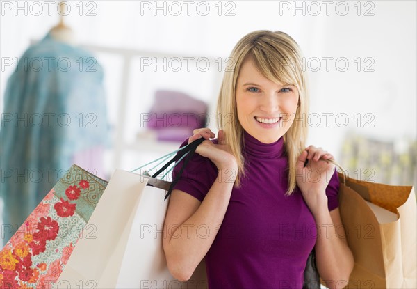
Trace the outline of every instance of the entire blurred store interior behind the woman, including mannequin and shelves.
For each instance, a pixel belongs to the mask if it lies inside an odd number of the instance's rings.
[[[26,219],[72,163],[108,179],[194,128],[217,132],[227,57],[259,29],[302,47],[308,144],[353,178],[416,186],[415,1],[46,2],[1,2],[1,224]]]

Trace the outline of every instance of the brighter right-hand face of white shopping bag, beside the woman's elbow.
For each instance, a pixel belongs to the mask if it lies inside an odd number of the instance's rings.
[[[168,201],[164,201],[169,182],[149,178],[155,187],[145,187],[133,219],[116,288],[207,288],[204,261],[186,283],[167,269],[163,252],[163,222]]]

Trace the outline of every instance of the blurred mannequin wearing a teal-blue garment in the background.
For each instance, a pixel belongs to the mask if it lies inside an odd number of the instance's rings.
[[[87,70],[88,60],[95,56],[78,42],[74,45],[74,39],[72,29],[60,17],[57,25],[21,56],[26,63],[43,61],[43,69],[18,65],[7,81],[4,111],[21,118],[40,116],[41,121],[38,125],[2,122],[1,169],[21,173],[25,181],[2,175],[1,198],[7,206],[1,210],[1,217],[3,224],[10,224],[14,230],[2,230],[1,242],[7,242],[24,223],[61,178],[61,170],[76,163],[95,168],[97,175],[106,177],[102,159],[110,143],[103,68],[96,61],[94,70]],[[94,129],[87,125],[91,114],[99,116],[94,119]],[[85,125],[79,125],[79,120]],[[33,178],[33,170],[42,175]]]

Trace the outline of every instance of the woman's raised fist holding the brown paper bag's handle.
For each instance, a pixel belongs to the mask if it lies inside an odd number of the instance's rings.
[[[327,206],[325,190],[334,173],[334,164],[328,162],[330,159],[333,160],[333,155],[315,146],[305,148],[297,159],[297,186],[311,212],[320,205]]]

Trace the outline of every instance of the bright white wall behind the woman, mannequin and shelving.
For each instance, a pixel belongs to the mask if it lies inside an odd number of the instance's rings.
[[[310,72],[311,113],[320,116],[320,119],[312,117],[311,121],[316,124],[320,120],[320,125],[311,127],[309,143],[322,146],[337,156],[347,132],[361,132],[380,139],[416,139],[416,1],[330,1],[328,11],[325,2],[207,1],[210,12],[202,16],[199,13],[204,13],[204,3],[192,1],[188,16],[185,2],[158,1],[158,6],[167,7],[165,16],[163,10],[143,9],[154,6],[154,1],[84,1],[82,13],[77,6],[80,2],[73,1],[65,21],[74,29],[81,45],[212,58],[227,57],[238,39],[250,31],[285,31],[299,42],[306,64],[310,64],[306,70]],[[33,14],[38,13],[38,4],[33,1],[19,2],[21,7],[26,3],[27,15],[24,15],[25,10],[15,10],[15,3],[1,3],[1,102],[6,79],[13,71],[13,67],[3,66],[3,60],[21,56],[30,40],[42,38],[58,21],[56,4],[51,6],[54,13],[49,16],[47,5],[39,1],[43,13],[37,16]],[[179,16],[174,16],[177,3],[183,10]],[[10,5],[12,9],[8,10]],[[305,15],[303,10],[293,10],[294,6],[303,5]],[[219,6],[222,6],[220,16]],[[345,6],[349,10],[342,16]],[[314,16],[318,7],[321,11]],[[229,9],[234,15],[225,15]],[[88,10],[96,15],[87,16]],[[328,57],[334,59],[326,71],[325,58]],[[115,122],[120,97],[120,59],[102,54],[97,54],[97,58],[107,69],[108,103]],[[314,72],[317,58],[321,68]],[[342,62],[335,65],[338,58],[347,60],[349,68],[345,72],[341,71]],[[358,58],[361,58],[359,71],[358,63],[354,62]],[[369,64],[368,69],[373,71],[364,71]],[[167,81],[171,80],[172,86],[213,106],[218,91],[218,87],[213,86],[213,74],[194,70],[184,75],[186,79],[180,77],[179,81],[172,81],[172,74],[168,72],[151,72],[147,78],[132,84],[129,88],[131,123],[134,123],[135,112],[147,112],[152,103],[153,86],[146,87],[149,83],[170,86]],[[329,118],[328,127],[323,115],[326,113],[334,114]],[[360,127],[357,127],[358,114],[361,114]],[[343,116],[347,116],[346,127],[341,127],[345,122]],[[368,125],[374,127],[365,127],[367,120],[371,120]],[[125,129],[130,136],[139,130],[134,125]],[[135,159],[134,162],[142,161]],[[121,166],[131,165],[125,162]]]

